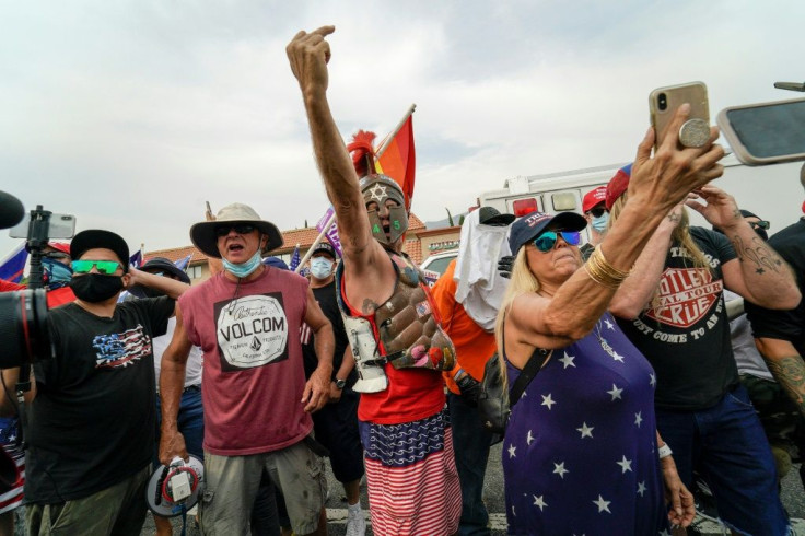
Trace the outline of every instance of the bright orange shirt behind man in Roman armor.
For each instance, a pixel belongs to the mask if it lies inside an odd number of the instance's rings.
[[[498,351],[498,346],[494,341],[494,334],[478,327],[478,324],[464,311],[464,306],[456,302],[456,282],[453,280],[455,270],[456,260],[453,259],[431,289],[431,294],[439,307],[442,327],[456,347],[458,365],[480,382],[483,378],[483,365]],[[453,393],[459,394],[458,387],[453,382],[455,370],[445,372],[444,378],[447,387]]]

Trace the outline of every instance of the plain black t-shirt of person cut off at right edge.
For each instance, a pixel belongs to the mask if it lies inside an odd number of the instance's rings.
[[[805,290],[805,219],[775,233],[769,245],[791,265],[797,287]],[[772,311],[749,302],[744,306],[756,338],[788,340],[805,356],[805,300],[791,311]]]

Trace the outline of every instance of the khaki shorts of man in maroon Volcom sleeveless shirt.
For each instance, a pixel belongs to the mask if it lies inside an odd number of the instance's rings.
[[[293,532],[316,531],[327,496],[324,458],[300,441],[281,451],[248,456],[205,452],[205,491],[199,501],[202,534],[248,534],[264,470],[285,498]]]

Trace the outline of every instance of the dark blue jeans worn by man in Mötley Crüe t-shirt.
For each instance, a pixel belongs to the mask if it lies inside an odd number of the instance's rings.
[[[657,429],[674,451],[682,482],[693,468],[710,485],[719,516],[740,534],[785,535],[774,459],[763,428],[743,386],[700,411],[656,410]],[[692,489],[692,488],[691,488]]]

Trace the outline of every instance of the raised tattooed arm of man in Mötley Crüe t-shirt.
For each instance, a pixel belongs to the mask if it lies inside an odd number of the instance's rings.
[[[697,194],[707,205],[688,200],[688,207],[721,229],[737,255],[722,265],[727,289],[767,308],[794,308],[802,296],[791,268],[744,220],[735,199],[714,186]]]

